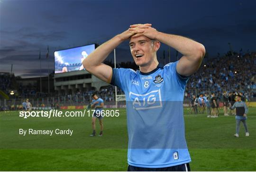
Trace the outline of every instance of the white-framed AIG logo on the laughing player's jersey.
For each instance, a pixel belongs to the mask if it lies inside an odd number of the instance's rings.
[[[130,91],[130,100],[133,108],[136,110],[153,109],[162,107],[161,92],[159,90],[151,91],[146,94],[136,94]]]

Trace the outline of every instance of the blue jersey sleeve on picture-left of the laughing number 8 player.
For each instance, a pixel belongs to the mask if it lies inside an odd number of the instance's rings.
[[[119,87],[122,91],[125,91],[124,80],[126,79],[127,69],[124,68],[113,68],[113,74],[110,84]]]

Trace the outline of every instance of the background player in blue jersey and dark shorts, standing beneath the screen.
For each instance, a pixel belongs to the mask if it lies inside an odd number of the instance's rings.
[[[91,108],[95,109],[94,113],[92,114],[91,118],[91,125],[92,125],[92,134],[90,135],[91,137],[96,136],[96,119],[99,119],[99,123],[101,126],[101,132],[99,136],[103,135],[103,116],[101,115],[101,111],[103,110],[104,107],[104,102],[101,98],[99,98],[95,93],[92,95],[92,101],[91,101]]]

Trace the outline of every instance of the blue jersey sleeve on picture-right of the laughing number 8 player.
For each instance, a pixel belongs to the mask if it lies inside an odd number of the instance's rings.
[[[189,77],[182,76],[177,72],[177,64],[179,61],[176,61],[174,63],[168,63],[165,65],[165,68],[167,68],[167,75],[171,75],[174,77],[174,79],[179,83],[180,87],[184,90],[187,81],[189,80]]]

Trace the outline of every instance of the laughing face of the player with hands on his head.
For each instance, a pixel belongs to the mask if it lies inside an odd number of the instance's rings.
[[[154,55],[158,50],[155,44],[157,44],[157,41],[153,42],[146,36],[132,37],[130,39],[130,51],[138,66],[146,66],[154,59]]]

